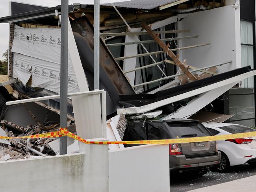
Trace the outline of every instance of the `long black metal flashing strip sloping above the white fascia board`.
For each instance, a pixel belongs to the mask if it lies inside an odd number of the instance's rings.
[[[223,81],[225,79],[229,79],[234,76],[238,76],[238,75],[250,72],[251,70],[252,69],[250,68],[250,66],[237,68],[237,69],[224,72],[209,78],[205,78],[205,79],[193,81],[191,83],[187,83],[184,85],[180,85],[178,87],[172,87],[169,89],[161,90],[156,92],[155,94],[145,93],[145,94],[119,95],[119,102],[124,104],[125,107],[143,106],[143,105],[154,103],[163,99],[171,98],[173,96],[183,94],[185,92],[189,92],[201,87],[205,87],[207,85],[211,85],[213,83],[217,83],[219,81]]]

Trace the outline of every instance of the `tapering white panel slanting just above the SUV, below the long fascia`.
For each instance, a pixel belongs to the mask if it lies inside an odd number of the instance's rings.
[[[239,81],[218,87],[216,89],[210,90],[208,92],[200,94],[197,98],[194,98],[188,102],[185,106],[180,107],[177,111],[172,114],[169,114],[163,120],[168,120],[171,118],[184,118],[187,119],[191,115],[197,113],[200,109],[211,103],[213,100],[221,96],[224,92],[231,89]]]

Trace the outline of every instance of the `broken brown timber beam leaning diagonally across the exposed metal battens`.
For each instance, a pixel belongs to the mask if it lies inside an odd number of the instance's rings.
[[[159,44],[159,46],[168,54],[171,59],[180,67],[182,71],[187,75],[187,77],[191,81],[196,81],[197,78],[183,65],[183,63],[178,59],[178,57],[169,50],[169,47],[167,47],[163,41],[156,35],[154,31],[152,31],[146,23],[142,23],[142,27],[148,32],[148,34]]]

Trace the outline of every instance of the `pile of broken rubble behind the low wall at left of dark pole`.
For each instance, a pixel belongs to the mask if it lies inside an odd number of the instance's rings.
[[[0,136],[21,137],[58,131],[59,124],[41,124],[21,127],[6,120],[2,120]],[[8,159],[26,159],[33,156],[56,155],[48,145],[56,138],[35,138],[35,139],[0,139],[0,161]]]

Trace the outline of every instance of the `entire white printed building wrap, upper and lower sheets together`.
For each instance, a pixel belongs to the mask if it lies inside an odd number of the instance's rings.
[[[22,28],[15,25],[13,77],[32,87],[60,92],[60,35],[58,28]],[[68,92],[79,92],[78,82],[68,59]]]

